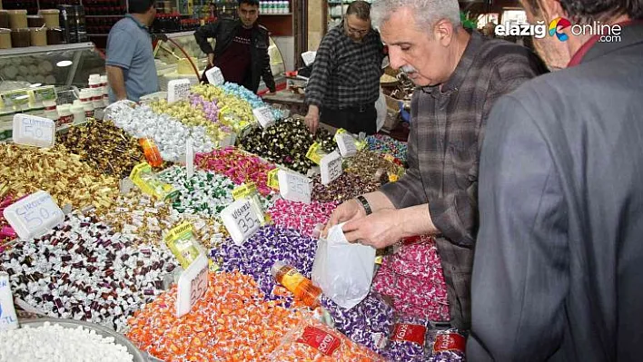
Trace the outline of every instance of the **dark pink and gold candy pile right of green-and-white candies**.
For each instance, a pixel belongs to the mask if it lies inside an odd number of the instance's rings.
[[[237,184],[254,182],[262,195],[272,192],[266,182],[274,165],[234,147],[199,153],[194,157],[194,164],[200,169],[221,173]]]

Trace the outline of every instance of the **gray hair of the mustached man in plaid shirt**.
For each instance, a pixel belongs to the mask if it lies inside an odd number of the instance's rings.
[[[462,24],[458,0],[375,0],[371,5],[372,23],[381,27],[391,14],[404,7],[411,9],[420,30],[430,31],[441,19],[449,20],[456,29]]]

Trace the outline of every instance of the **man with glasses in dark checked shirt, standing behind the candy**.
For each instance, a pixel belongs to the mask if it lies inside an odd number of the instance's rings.
[[[320,121],[352,133],[377,132],[384,46],[370,13],[369,3],[351,3],[341,24],[322,39],[306,85],[305,122],[312,133]]]

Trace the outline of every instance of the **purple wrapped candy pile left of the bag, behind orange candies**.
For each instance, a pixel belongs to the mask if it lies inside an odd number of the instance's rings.
[[[264,226],[246,240],[241,247],[234,245],[232,239],[223,243],[221,248],[213,249],[211,257],[224,271],[239,270],[257,281],[267,299],[282,297],[272,294],[277,286],[270,269],[277,260],[291,265],[306,278],[311,278],[312,262],[315,259],[317,240],[302,236],[297,230],[279,229]],[[292,299],[287,298],[288,304]]]

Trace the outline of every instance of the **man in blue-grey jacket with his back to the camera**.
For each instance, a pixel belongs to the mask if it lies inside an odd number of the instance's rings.
[[[620,38],[558,27],[565,41],[534,39],[566,69],[493,107],[467,359],[640,361],[643,1],[522,3],[529,24],[600,22]]]

